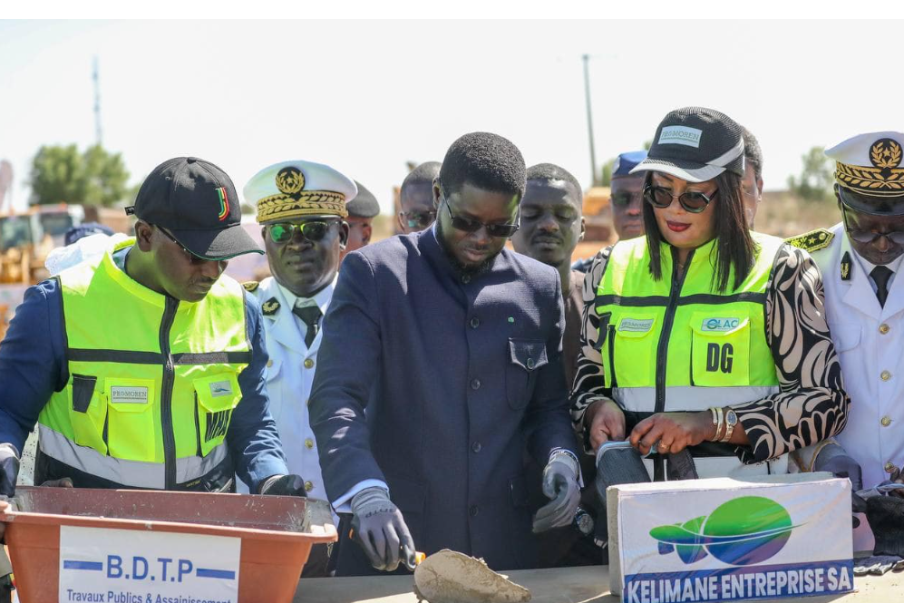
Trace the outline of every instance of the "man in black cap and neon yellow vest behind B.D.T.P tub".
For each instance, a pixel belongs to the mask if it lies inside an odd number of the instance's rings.
[[[261,253],[208,161],[155,168],[135,238],[31,287],[0,346],[0,494],[38,423],[35,482],[304,496],[267,410],[261,313],[227,260]]]

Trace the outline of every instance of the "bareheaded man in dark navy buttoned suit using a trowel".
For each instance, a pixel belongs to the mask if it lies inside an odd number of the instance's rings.
[[[434,182],[433,229],[345,258],[310,398],[326,493],[359,545],[338,575],[412,568],[415,545],[532,567],[525,448],[551,499],[533,530],[574,516],[559,273],[504,249],[524,187],[510,141],[466,134]]]

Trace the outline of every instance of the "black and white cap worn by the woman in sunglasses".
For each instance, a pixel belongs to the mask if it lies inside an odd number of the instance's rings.
[[[688,182],[712,180],[725,170],[744,177],[741,125],[705,107],[669,112],[656,128],[646,160],[631,173],[661,171]]]

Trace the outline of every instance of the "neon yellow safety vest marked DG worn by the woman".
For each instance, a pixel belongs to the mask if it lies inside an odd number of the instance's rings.
[[[627,411],[702,411],[779,391],[765,336],[765,301],[783,241],[751,234],[759,247],[753,268],[740,287],[724,295],[713,287],[714,240],[689,255],[681,277],[672,248],[663,243],[658,281],[649,273],[646,238],[620,241],[612,249],[595,303],[598,349],[606,384]],[[734,283],[734,271],[729,282]],[[780,464],[787,466],[786,460]],[[663,479],[658,465],[654,476]],[[697,461],[701,475],[780,469],[740,465],[734,458]]]

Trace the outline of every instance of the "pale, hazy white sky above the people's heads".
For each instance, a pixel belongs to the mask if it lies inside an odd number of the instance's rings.
[[[766,189],[801,155],[904,129],[901,23],[807,21],[0,21],[0,158],[14,201],[42,144],[95,141],[139,183],[170,157],[219,164],[241,194],[258,170],[315,160],[391,210],[406,160],[442,160],[462,133],[497,132],[528,165],[590,182],[580,57],[591,55],[597,159],[703,105],[759,138]]]

